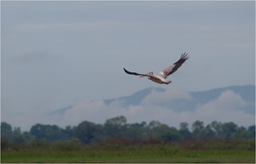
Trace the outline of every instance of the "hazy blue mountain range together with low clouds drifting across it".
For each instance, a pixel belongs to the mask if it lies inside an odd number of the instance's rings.
[[[255,119],[255,85],[187,92],[182,88],[145,88],[128,96],[82,102],[46,115],[61,125],[89,120],[103,123],[114,116],[131,122],[159,120],[178,126],[180,122],[237,122],[247,126]],[[65,123],[63,123],[65,122]]]

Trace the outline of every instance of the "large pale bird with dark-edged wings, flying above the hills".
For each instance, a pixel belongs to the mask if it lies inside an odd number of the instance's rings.
[[[131,71],[127,71],[124,68],[124,71],[129,74],[129,75],[135,75],[135,76],[140,76],[140,77],[145,77],[147,76],[149,80],[153,81],[153,82],[157,82],[160,84],[169,84],[172,81],[167,80],[167,76],[172,75],[172,73],[174,73],[175,71],[177,71],[177,69],[183,65],[183,63],[189,59],[188,53],[183,53],[181,54],[181,57],[179,60],[177,60],[176,63],[174,63],[173,65],[168,66],[165,70],[160,71],[157,74],[154,74],[153,71],[150,71],[146,74],[140,74],[137,72],[131,72]]]

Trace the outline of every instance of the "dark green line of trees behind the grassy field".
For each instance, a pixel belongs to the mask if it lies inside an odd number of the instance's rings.
[[[130,139],[145,141],[158,139],[163,141],[179,141],[185,139],[255,139],[255,125],[239,127],[234,122],[204,122],[195,121],[191,128],[189,123],[181,122],[179,128],[169,127],[159,121],[127,123],[125,116],[108,119],[104,124],[80,122],[78,126],[65,128],[56,125],[33,125],[29,132],[21,132],[20,127],[11,127],[7,122],[1,122],[2,149],[10,142],[31,143],[34,140],[55,141],[79,140],[88,144],[104,139]]]

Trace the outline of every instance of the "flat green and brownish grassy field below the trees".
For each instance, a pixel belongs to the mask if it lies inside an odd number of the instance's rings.
[[[229,162],[255,163],[255,141],[185,141],[181,143],[55,143],[47,148],[2,150],[7,162]]]

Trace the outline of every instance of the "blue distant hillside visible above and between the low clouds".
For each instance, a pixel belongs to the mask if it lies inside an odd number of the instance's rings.
[[[240,110],[248,114],[255,115],[255,86],[230,86],[225,88],[214,88],[207,91],[200,92],[189,92],[190,99],[170,99],[165,102],[160,102],[157,105],[163,106],[165,108],[170,108],[174,111],[193,111],[196,109],[196,106],[207,104],[209,102],[218,99],[218,97],[227,91],[236,93],[241,97],[241,99],[247,102],[247,105],[244,105]],[[129,96],[120,97],[117,99],[105,99],[103,102],[105,105],[111,105],[114,102],[119,102],[122,107],[127,107],[129,105],[141,105],[143,100],[147,98],[150,93],[164,93],[166,88],[145,88],[141,91],[133,93]],[[55,110],[50,112],[47,116],[63,115],[67,110],[72,109],[71,106],[67,106],[60,110]]]

